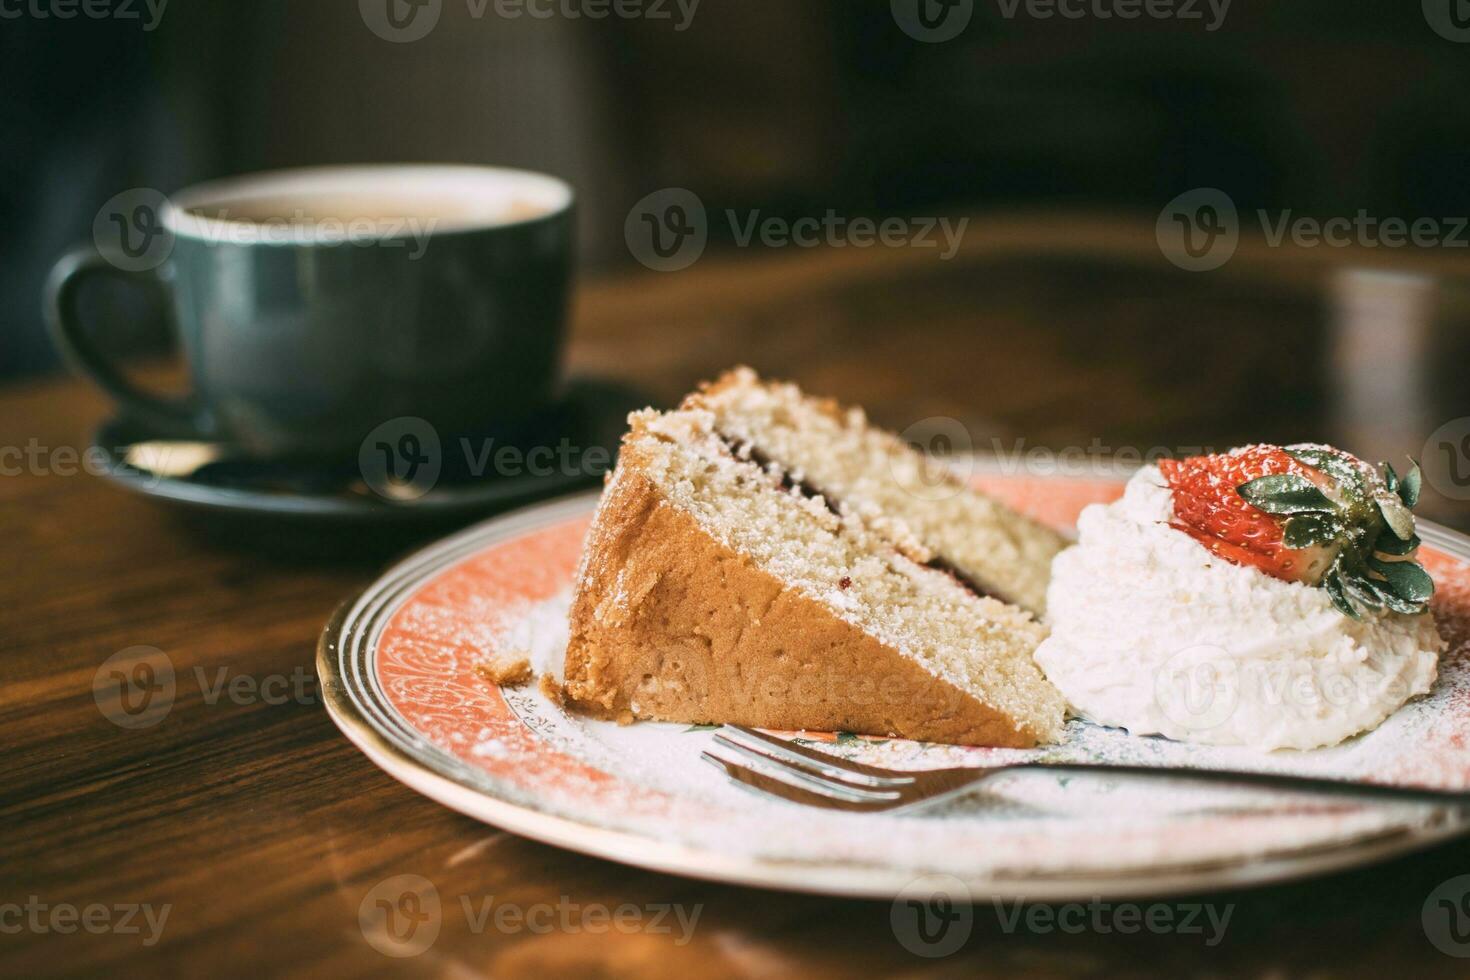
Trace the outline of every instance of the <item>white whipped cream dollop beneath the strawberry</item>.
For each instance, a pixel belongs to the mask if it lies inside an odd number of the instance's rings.
[[[1311,749],[1380,724],[1435,682],[1429,613],[1339,613],[1320,588],[1219,558],[1170,526],[1144,467],[1078,520],[1047,591],[1036,663],[1076,714],[1133,735]]]

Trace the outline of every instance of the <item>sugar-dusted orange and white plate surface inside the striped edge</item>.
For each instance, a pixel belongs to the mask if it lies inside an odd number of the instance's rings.
[[[1048,480],[1014,483],[1036,498]],[[534,686],[498,691],[475,676],[476,657],[509,646],[529,651],[538,673],[554,671],[585,529],[581,516],[437,570],[394,614],[375,651],[382,689],[403,718],[479,773],[484,792],[529,810],[719,854],[992,879],[1239,862],[1461,820],[1426,805],[1058,773],[1001,774],[970,798],[903,817],[757,798],[700,761],[709,730],[588,720]],[[1185,745],[1082,721],[1067,726],[1060,745],[1029,751],[797,738],[894,767],[1067,758],[1470,788],[1470,569],[1442,555],[1429,560],[1441,585],[1435,613],[1451,644],[1439,682],[1376,732],[1332,749]]]

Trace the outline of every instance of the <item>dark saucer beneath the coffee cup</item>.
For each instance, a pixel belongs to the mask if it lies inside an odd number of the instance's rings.
[[[123,417],[103,423],[93,445],[106,460],[100,469],[104,479],[191,510],[329,522],[437,522],[597,486],[616,458],[628,413],[645,404],[638,392],[614,382],[573,379],[556,407],[514,436],[445,445],[432,486],[412,494],[369,480],[356,460],[248,460],[232,458],[228,450],[190,473],[165,475],[147,469],[134,451],[160,436]]]

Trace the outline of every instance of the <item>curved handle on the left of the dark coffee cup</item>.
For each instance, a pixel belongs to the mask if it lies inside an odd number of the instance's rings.
[[[81,285],[93,278],[146,284],[163,298],[160,306],[168,310],[168,284],[159,269],[121,269],[93,248],[78,248],[63,256],[46,281],[46,316],[56,347],[78,373],[90,376],[129,417],[150,425],[159,435],[198,438],[207,426],[196,395],[165,397],[138,388],[87,338],[76,300]]]

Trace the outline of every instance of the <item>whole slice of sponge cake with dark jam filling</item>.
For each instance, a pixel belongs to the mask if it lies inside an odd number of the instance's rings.
[[[748,372],[631,423],[578,573],[570,707],[969,745],[1060,735],[1064,702],[1032,661],[1045,630],[995,598],[1045,589],[1048,532],[964,488],[945,513],[979,516],[972,530],[931,520],[936,501],[901,497],[917,454]]]

